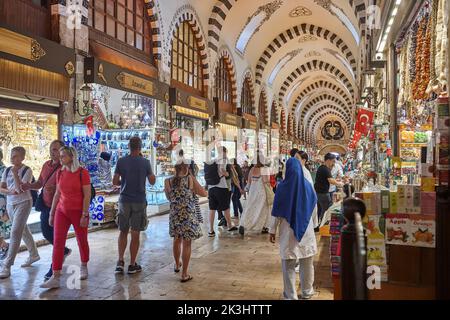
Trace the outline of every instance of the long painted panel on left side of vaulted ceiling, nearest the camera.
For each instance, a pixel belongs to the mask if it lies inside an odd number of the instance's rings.
[[[251,17],[248,17],[247,23],[239,34],[236,41],[236,50],[243,55],[250,39],[259,31],[262,25],[272,17],[272,15],[281,8],[283,0],[276,0],[265,5],[259,6]]]

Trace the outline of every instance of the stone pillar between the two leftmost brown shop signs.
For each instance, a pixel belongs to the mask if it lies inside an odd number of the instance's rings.
[[[52,38],[61,45],[74,48],[76,55],[75,75],[70,81],[70,97],[61,107],[63,110],[62,123],[73,124],[82,119],[74,113],[75,98],[82,105],[80,87],[84,83],[84,57],[89,52],[88,29],[89,0],[53,0]]]

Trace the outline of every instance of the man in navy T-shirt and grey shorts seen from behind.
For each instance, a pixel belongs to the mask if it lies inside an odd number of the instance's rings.
[[[133,137],[129,142],[130,155],[120,158],[116,165],[113,184],[120,185],[119,213],[117,224],[119,226],[119,260],[115,273],[124,272],[124,254],[127,248],[128,232],[131,228],[130,265],[128,274],[142,271],[142,267],[136,263],[139,251],[139,237],[141,231],[147,228],[147,198],[146,182],[155,184],[156,177],[153,174],[150,161],[142,157],[142,141],[139,137]]]

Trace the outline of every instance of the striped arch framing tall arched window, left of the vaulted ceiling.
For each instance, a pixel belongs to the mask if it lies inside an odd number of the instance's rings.
[[[201,25],[199,23],[199,19],[197,17],[197,14],[194,10],[194,8],[191,5],[184,5],[180,7],[177,12],[175,13],[174,20],[171,23],[170,26],[170,33],[169,33],[169,39],[166,41],[166,45],[169,47],[168,50],[165,50],[167,52],[167,63],[169,66],[169,70],[171,67],[171,56],[172,56],[172,38],[174,37],[174,34],[180,24],[183,22],[189,23],[191,26],[195,38],[197,40],[198,49],[200,50],[200,59],[202,60],[202,68],[203,68],[203,88],[205,95],[208,95],[208,88],[209,88],[209,57],[208,57],[208,50],[206,48],[206,42],[205,37],[203,36],[203,31],[201,28]]]

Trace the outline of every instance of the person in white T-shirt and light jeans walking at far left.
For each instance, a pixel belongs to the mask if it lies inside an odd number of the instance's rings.
[[[25,263],[22,264],[22,267],[30,267],[40,259],[36,243],[27,226],[28,216],[33,206],[33,197],[29,190],[24,191],[22,189],[22,185],[31,182],[33,172],[31,168],[23,164],[25,154],[26,151],[23,147],[11,149],[12,166],[3,172],[1,179],[0,193],[7,197],[7,210],[12,220],[12,229],[8,256],[0,270],[0,279],[10,277],[11,266],[14,264],[16,255],[19,252],[22,238],[30,254]]]

